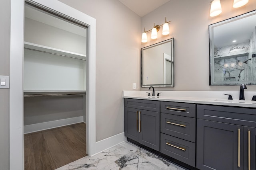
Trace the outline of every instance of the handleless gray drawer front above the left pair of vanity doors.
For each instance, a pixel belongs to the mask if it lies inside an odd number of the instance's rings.
[[[124,99],[124,107],[160,112],[160,102],[154,100]]]

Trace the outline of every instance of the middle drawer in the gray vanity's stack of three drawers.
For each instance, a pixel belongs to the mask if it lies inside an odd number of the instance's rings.
[[[196,141],[196,119],[161,113],[160,118],[161,133],[172,135],[187,141]]]

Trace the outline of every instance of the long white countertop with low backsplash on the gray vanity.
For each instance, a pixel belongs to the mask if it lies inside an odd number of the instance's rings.
[[[152,95],[152,90],[123,91],[123,98],[256,108],[256,101],[251,100],[256,92],[244,92],[246,100],[238,100],[239,92],[236,91],[156,91],[155,96],[147,96],[146,92]],[[161,93],[160,97],[157,93]],[[228,96],[224,94],[231,94],[233,100],[227,100]]]

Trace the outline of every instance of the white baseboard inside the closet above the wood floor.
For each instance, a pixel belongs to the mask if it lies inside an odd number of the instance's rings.
[[[84,122],[83,116],[72,117],[72,118],[68,118],[68,119],[60,119],[60,120],[55,120],[55,121],[48,121],[48,122],[43,122],[43,123],[36,123],[36,124],[32,124],[32,125],[25,125],[24,126],[24,134],[42,131],[42,130],[46,130],[46,129],[52,129],[55,127],[72,125],[72,124],[81,123],[81,122]]]

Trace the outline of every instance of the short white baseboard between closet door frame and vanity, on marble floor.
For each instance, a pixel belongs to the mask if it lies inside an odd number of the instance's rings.
[[[96,142],[95,153],[98,154],[106,149],[112,148],[122,142],[126,141],[126,137],[124,136],[124,132],[114,135],[112,137],[108,137],[101,141]],[[94,156],[93,154],[91,156]]]

